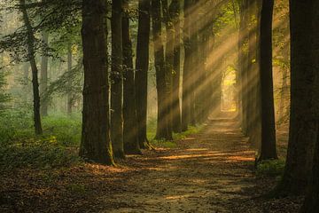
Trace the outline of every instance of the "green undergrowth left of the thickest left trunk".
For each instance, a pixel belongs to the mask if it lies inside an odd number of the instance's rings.
[[[0,170],[50,169],[80,163],[80,116],[51,115],[43,118],[43,137],[34,135],[32,114],[6,112],[0,118]]]

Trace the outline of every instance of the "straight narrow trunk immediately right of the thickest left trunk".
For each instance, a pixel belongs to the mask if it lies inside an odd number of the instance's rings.
[[[125,158],[123,145],[122,0],[112,1],[111,138],[113,154]]]

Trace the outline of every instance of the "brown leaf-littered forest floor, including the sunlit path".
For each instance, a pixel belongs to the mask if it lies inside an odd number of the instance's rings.
[[[256,177],[255,152],[229,119],[128,156],[118,167],[19,170],[2,178],[1,212],[298,212],[302,198],[262,196],[275,177]]]

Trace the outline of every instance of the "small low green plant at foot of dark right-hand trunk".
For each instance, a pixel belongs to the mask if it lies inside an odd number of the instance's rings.
[[[278,177],[284,172],[284,161],[264,161],[258,164],[256,174],[259,177]]]

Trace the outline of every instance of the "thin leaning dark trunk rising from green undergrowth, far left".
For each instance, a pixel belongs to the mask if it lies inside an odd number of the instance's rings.
[[[42,123],[40,114],[40,91],[39,91],[39,81],[38,81],[38,68],[35,62],[35,35],[34,30],[31,26],[27,14],[26,1],[20,0],[20,11],[23,15],[23,21],[27,28],[27,59],[30,62],[32,70],[32,86],[33,86],[33,96],[34,96],[34,125],[35,125],[35,135],[42,135]]]

